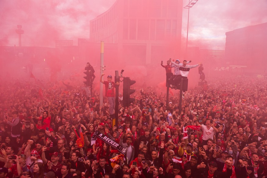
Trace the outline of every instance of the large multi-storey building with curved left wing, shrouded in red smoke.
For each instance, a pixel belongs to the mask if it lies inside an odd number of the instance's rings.
[[[90,40],[117,45],[118,62],[128,65],[179,58],[182,10],[177,0],[117,0],[90,21]]]

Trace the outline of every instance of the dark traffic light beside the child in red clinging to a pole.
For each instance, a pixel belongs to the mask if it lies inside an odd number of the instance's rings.
[[[135,93],[135,89],[130,89],[130,86],[135,84],[135,80],[130,80],[129,77],[123,79],[123,106],[129,106],[130,103],[134,102],[134,98],[130,98],[132,93]]]

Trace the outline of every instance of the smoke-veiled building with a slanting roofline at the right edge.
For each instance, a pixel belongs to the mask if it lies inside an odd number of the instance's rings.
[[[225,61],[230,66],[247,66],[247,73],[261,74],[267,67],[266,32],[267,23],[226,32]]]

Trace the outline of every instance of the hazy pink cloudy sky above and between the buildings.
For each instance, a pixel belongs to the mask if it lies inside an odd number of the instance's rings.
[[[89,21],[115,0],[1,0],[0,45],[18,45],[15,29],[22,25],[23,46],[54,47],[55,39],[89,38]],[[183,0],[184,6],[188,0]],[[183,12],[186,38],[187,9]],[[225,32],[267,22],[266,0],[199,0],[190,9],[188,47],[224,50]],[[185,41],[183,41],[185,44]]]

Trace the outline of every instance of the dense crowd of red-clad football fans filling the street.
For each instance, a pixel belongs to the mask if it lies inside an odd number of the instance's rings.
[[[102,77],[106,89],[117,84]],[[107,91],[100,106],[99,94],[83,89],[9,83],[0,92],[0,178],[265,177],[266,83],[210,79],[168,103],[154,87],[136,85],[135,102],[120,100],[114,126]]]

